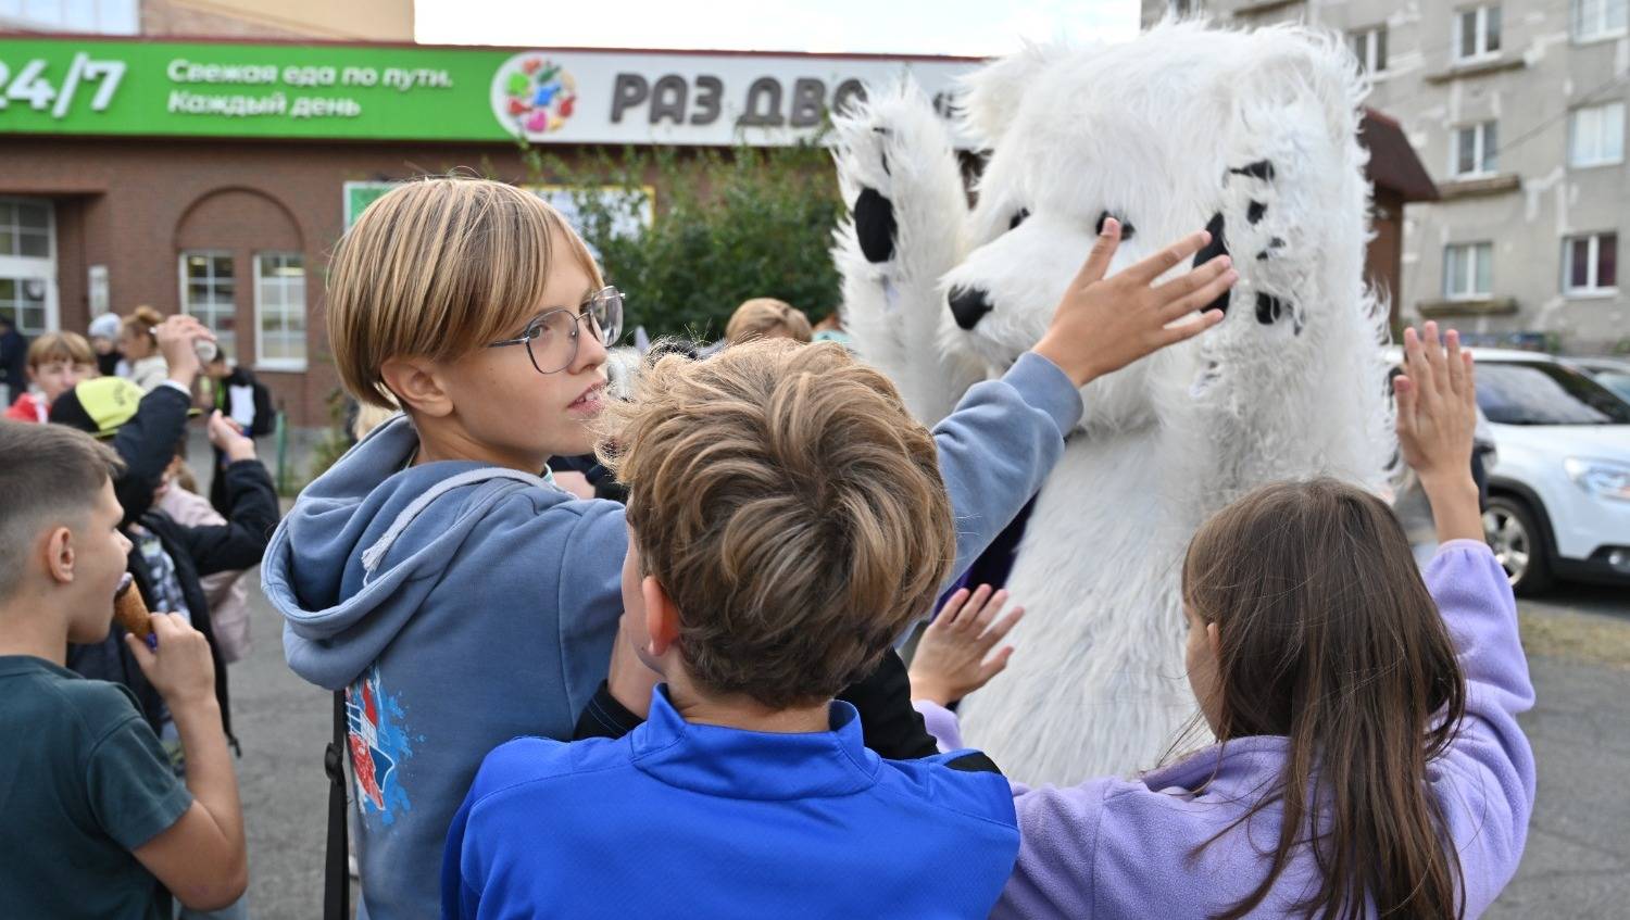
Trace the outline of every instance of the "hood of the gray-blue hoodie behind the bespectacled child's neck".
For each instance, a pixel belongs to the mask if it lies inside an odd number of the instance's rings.
[[[284,655],[313,684],[337,690],[357,679],[442,581],[484,511],[549,485],[474,461],[408,466],[417,445],[406,417],[375,428],[300,493],[266,549],[261,588],[284,616]]]

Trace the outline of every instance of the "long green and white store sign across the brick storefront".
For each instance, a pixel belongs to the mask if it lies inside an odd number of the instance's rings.
[[[0,134],[787,145],[978,62],[0,37]]]

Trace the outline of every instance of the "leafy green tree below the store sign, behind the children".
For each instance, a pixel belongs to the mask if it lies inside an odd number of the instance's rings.
[[[526,163],[533,181],[572,189],[584,239],[626,295],[629,329],[712,340],[751,296],[812,321],[838,306],[830,249],[843,204],[823,147],[629,148],[579,163],[528,148]],[[652,187],[654,220],[631,231]]]

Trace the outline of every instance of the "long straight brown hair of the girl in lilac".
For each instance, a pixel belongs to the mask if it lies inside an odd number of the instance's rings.
[[[1218,624],[1218,738],[1291,743],[1273,786],[1193,853],[1280,803],[1265,878],[1214,917],[1255,910],[1302,847],[1322,881],[1297,913],[1460,917],[1426,767],[1460,725],[1465,677],[1392,510],[1333,479],[1258,488],[1195,534],[1183,602]]]

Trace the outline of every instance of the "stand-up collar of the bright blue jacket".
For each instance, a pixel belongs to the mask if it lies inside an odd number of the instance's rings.
[[[861,715],[831,702],[831,731],[766,733],[693,725],[650,695],[650,715],[629,736],[634,767],[670,785],[734,800],[852,795],[877,782],[880,757],[866,749]]]

